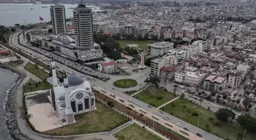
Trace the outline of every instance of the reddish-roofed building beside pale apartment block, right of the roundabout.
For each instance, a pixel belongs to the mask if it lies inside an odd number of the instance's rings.
[[[160,69],[160,79],[171,81],[174,79],[175,67],[162,67]]]

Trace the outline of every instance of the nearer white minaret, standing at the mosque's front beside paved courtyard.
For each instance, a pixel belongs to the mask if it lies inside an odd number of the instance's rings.
[[[69,80],[67,77],[67,74],[64,76],[64,91],[65,91],[65,104],[66,104],[66,109],[65,109],[65,114],[66,114],[66,123],[75,123],[74,120],[74,113],[71,107],[70,103],[70,98],[69,98]]]

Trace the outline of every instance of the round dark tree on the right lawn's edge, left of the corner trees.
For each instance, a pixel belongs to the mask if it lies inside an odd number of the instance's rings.
[[[219,108],[215,115],[219,121],[227,121],[228,117],[232,117],[232,119],[235,119],[235,113],[232,110],[225,108]]]

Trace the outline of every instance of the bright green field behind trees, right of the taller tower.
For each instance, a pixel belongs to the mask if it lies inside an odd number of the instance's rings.
[[[139,40],[117,40],[116,42],[119,42],[121,47],[124,48],[128,44],[136,44],[139,45],[139,48],[147,49],[149,47],[149,44],[154,43],[153,41],[139,41]],[[137,48],[134,48],[138,50]]]

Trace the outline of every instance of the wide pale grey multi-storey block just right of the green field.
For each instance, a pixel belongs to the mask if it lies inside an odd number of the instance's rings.
[[[150,46],[151,58],[162,56],[167,53],[171,48],[174,48],[172,42],[156,42]]]

